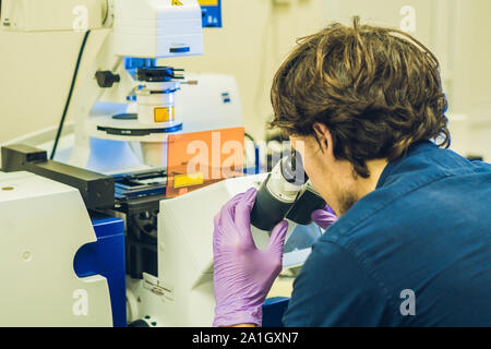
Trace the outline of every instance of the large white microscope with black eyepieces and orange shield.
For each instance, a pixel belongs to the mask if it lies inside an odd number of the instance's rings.
[[[211,326],[221,205],[259,188],[259,246],[276,220],[290,219],[291,232],[323,206],[307,178],[285,177],[295,156],[272,173],[220,170],[233,149],[243,166],[236,82],[173,64],[203,55],[203,27],[221,26],[220,0],[3,0],[0,25],[83,37],[57,135],[41,147],[29,135],[1,148],[0,276],[10,287],[0,292],[0,325]],[[69,151],[64,119],[74,120]],[[230,157],[216,165],[202,145]],[[182,169],[196,158],[203,167]],[[287,253],[284,265],[308,253]]]

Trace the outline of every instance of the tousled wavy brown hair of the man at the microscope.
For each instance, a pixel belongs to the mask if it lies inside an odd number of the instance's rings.
[[[270,125],[319,142],[313,124],[325,124],[335,157],[368,178],[368,160],[395,160],[420,140],[448,147],[451,137],[434,55],[404,32],[359,21],[297,40],[273,81]]]

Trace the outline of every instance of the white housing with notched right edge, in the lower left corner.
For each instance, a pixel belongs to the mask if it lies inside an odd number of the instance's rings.
[[[111,326],[107,280],[79,278],[76,251],[96,241],[80,192],[0,171],[0,326]]]

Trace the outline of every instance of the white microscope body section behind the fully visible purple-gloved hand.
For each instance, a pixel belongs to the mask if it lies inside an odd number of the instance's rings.
[[[164,326],[211,326],[214,317],[214,217],[231,197],[258,188],[267,173],[230,178],[182,196],[160,201],[158,214],[158,281],[164,288],[159,308],[153,308]],[[289,222],[287,239],[295,229]],[[259,249],[267,232],[252,229]],[[284,255],[284,267],[301,265],[310,251]],[[292,263],[295,261],[295,263]]]

